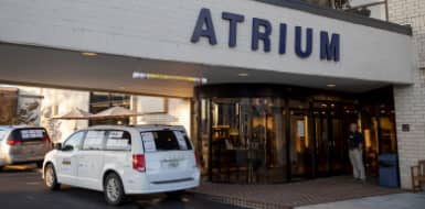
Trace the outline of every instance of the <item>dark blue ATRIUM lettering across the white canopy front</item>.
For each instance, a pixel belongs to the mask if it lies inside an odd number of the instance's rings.
[[[229,21],[229,47],[236,47],[237,45],[237,24],[245,21],[242,14],[222,12],[222,19]],[[287,29],[286,23],[279,24],[279,40],[278,53],[280,55],[287,52]],[[251,50],[258,51],[259,43],[263,43],[263,51],[270,52],[273,40],[270,38],[273,31],[272,23],[266,19],[253,18],[252,23],[252,38]],[[322,61],[340,61],[340,35],[338,33],[329,33],[328,31],[320,31],[320,50],[319,55]],[[216,45],[217,38],[213,20],[211,18],[210,9],[201,9],[196,24],[191,37],[192,43],[198,43],[201,37],[209,41],[210,45]],[[311,28],[302,29],[302,26],[295,26],[294,52],[300,58],[308,58],[314,53],[314,30]]]

